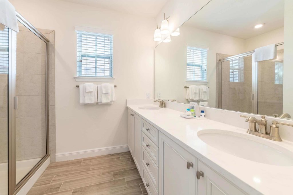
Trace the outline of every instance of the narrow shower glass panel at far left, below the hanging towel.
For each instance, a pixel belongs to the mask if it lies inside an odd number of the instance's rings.
[[[9,30],[0,30],[0,194],[8,194]]]

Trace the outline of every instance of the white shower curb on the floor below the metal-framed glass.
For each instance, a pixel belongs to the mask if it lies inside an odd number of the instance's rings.
[[[50,164],[50,156],[47,160],[40,166],[40,168],[33,174],[32,177],[24,184],[24,186],[17,192],[17,195],[25,195],[28,194],[31,187],[35,184],[35,182],[39,179],[42,173],[46,170],[47,166]]]

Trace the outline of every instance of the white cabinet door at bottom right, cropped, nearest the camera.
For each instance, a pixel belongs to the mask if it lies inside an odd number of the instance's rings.
[[[198,161],[198,171],[202,171],[204,176],[197,180],[197,194],[200,195],[244,195],[242,191],[218,175],[207,165]]]

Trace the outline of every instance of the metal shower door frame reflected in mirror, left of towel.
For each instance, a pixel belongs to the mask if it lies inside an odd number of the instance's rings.
[[[219,60],[219,108],[222,109],[222,62],[233,60],[236,58],[241,58],[245,56],[252,56],[252,111],[253,113],[258,113],[258,62],[254,62],[254,51],[249,51],[243,54],[230,56]]]

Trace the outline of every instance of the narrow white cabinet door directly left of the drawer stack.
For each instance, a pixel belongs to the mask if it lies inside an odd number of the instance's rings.
[[[141,167],[141,144],[142,144],[142,130],[141,130],[141,118],[134,114],[134,162],[137,166],[138,171],[140,172]]]

